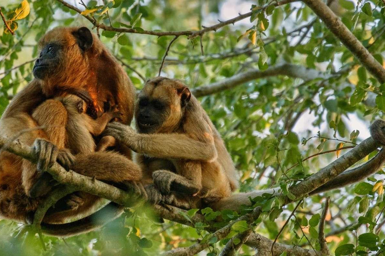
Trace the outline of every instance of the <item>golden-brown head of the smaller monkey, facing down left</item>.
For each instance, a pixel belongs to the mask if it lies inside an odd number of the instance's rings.
[[[190,99],[189,89],[178,80],[161,76],[148,80],[136,102],[137,130],[141,133],[174,131]]]

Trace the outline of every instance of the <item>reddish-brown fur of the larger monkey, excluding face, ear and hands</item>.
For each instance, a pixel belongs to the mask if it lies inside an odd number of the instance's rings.
[[[122,123],[131,122],[135,98],[132,82],[96,35],[93,35],[92,47],[82,52],[73,36],[73,32],[77,29],[77,27],[58,27],[49,31],[40,40],[41,47],[50,42],[65,46],[60,60],[60,71],[44,80],[35,78],[15,96],[0,119],[3,136],[12,137],[23,128],[37,127],[39,124],[47,125],[45,129],[23,133],[19,140],[32,145],[36,138],[43,138],[56,144],[59,149],[64,148],[67,111],[61,102],[49,98],[64,96],[74,90],[88,91],[94,99],[95,106],[101,111],[106,101],[112,105],[119,105]],[[126,147],[118,148],[130,156]],[[74,170],[113,182],[137,181],[141,178],[141,171],[137,165],[114,152],[77,155]],[[44,196],[37,198],[28,196],[29,189],[39,176],[36,164],[3,151],[0,154],[0,214],[24,221],[44,198]],[[87,213],[96,201],[95,196],[89,196],[81,207],[72,211],[56,212],[46,216],[44,221],[62,222],[78,213]],[[60,232],[60,225],[55,228]],[[81,228],[79,225],[77,232]],[[62,235],[68,234],[70,233],[62,232]]]

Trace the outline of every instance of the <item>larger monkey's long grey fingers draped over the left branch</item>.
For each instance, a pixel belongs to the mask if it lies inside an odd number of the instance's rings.
[[[67,149],[58,149],[52,142],[37,138],[32,145],[32,151],[37,158],[37,170],[46,171],[58,161],[66,170],[75,162],[75,157]]]

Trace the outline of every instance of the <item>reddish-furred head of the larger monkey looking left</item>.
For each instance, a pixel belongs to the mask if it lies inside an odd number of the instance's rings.
[[[90,72],[92,57],[101,48],[97,47],[101,42],[94,37],[84,26],[56,27],[42,37],[33,73],[41,80],[45,94],[53,93],[55,86],[85,86],[90,82],[95,76]]]

